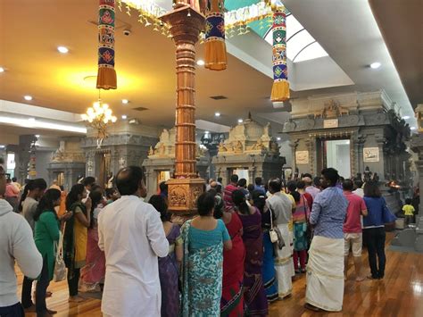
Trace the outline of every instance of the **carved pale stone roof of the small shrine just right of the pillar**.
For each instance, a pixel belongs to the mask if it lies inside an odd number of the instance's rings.
[[[272,147],[273,146],[273,147]],[[270,123],[262,126],[251,119],[239,123],[229,131],[229,137],[220,142],[220,154],[278,154],[278,143],[270,136]]]

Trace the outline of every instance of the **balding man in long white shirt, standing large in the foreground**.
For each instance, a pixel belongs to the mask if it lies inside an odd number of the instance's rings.
[[[121,198],[98,216],[98,246],[104,250],[104,316],[160,316],[162,293],[158,257],[169,252],[160,213],[146,195],[141,168],[129,166],[116,176]]]

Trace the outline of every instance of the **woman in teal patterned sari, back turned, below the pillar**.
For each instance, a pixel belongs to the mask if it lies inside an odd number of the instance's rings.
[[[197,199],[198,217],[182,226],[182,316],[219,316],[222,295],[223,248],[232,242],[221,220],[213,217],[214,195]]]

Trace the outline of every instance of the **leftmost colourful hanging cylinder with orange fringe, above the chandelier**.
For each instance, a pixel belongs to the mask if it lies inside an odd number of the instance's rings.
[[[114,1],[100,0],[98,9],[98,89],[116,89],[114,70]]]

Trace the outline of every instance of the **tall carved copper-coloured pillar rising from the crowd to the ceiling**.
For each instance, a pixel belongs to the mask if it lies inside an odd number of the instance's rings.
[[[195,43],[205,17],[190,5],[175,4],[161,20],[170,25],[176,45],[175,178],[168,181],[168,192],[173,221],[181,223],[195,214],[195,202],[204,184],[197,177],[195,160]]]

